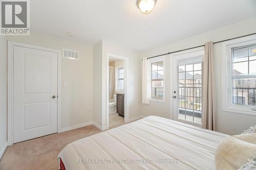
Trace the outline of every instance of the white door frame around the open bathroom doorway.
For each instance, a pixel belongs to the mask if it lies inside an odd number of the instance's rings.
[[[106,129],[109,129],[109,58],[115,58],[124,61],[124,122],[129,122],[129,105],[127,100],[127,92],[129,91],[129,86],[127,83],[129,58],[108,53],[106,54]]]

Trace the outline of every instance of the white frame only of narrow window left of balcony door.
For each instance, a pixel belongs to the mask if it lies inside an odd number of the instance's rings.
[[[155,99],[152,98],[152,63],[155,62],[163,62],[163,99]],[[155,102],[165,102],[165,57],[160,56],[160,57],[155,57],[148,59],[148,79],[150,82],[150,101],[155,101]]]

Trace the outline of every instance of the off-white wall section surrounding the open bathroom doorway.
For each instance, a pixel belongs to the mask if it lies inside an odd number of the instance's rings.
[[[101,44],[101,47],[99,47],[99,44]],[[108,53],[129,58],[129,72],[127,81],[129,92],[128,94],[125,94],[127,95],[129,103],[129,106],[127,106],[129,108],[129,117],[127,117],[127,119],[132,120],[138,118],[141,115],[141,61],[139,58],[139,53],[105,40],[102,40],[98,44],[94,45],[93,48],[94,53],[98,50],[102,50],[101,60],[94,59],[93,63],[95,69],[99,66],[102,67],[101,75],[98,75],[99,72],[94,72],[94,76],[101,78],[101,86],[94,84],[94,87],[97,86],[94,90],[94,110],[97,110],[97,112],[94,111],[94,121],[102,127],[106,126],[106,117],[104,115],[106,114],[106,56]],[[97,55],[94,54],[94,57],[98,57],[98,55],[100,55],[100,52],[97,52]],[[98,81],[100,80],[95,81],[95,83],[99,83]],[[99,91],[101,96],[98,94]],[[95,95],[97,95],[96,98]],[[97,107],[101,107],[101,112]]]

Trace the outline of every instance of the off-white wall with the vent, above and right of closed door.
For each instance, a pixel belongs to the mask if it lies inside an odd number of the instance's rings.
[[[9,36],[8,40],[54,48],[61,50],[61,52],[62,48],[79,51],[79,60],[61,58],[61,128],[92,121],[92,46],[41,34]],[[63,87],[63,82],[68,82],[68,87]],[[79,110],[83,110],[82,115],[79,115]],[[91,113],[88,113],[89,110]]]

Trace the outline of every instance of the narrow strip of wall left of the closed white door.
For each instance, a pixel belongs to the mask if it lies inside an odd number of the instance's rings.
[[[0,151],[7,142],[7,41],[0,36]]]

